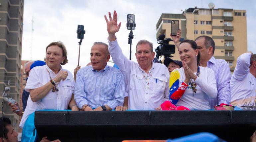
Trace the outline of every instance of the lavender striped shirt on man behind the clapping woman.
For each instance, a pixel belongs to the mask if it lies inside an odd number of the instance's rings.
[[[211,109],[213,109],[213,106],[221,103],[229,104],[231,73],[228,63],[223,59],[215,59],[212,56],[207,62],[207,67],[213,70],[218,89],[216,98],[208,98]]]

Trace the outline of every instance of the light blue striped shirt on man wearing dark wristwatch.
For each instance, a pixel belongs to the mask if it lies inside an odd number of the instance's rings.
[[[85,104],[91,108],[108,105],[115,109],[123,106],[124,93],[124,77],[117,68],[106,65],[97,71],[92,66],[86,66],[76,74],[74,98],[80,109]]]

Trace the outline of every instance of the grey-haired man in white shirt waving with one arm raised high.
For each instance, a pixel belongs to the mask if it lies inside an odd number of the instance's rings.
[[[164,64],[153,63],[155,56],[153,45],[147,40],[140,40],[136,45],[135,55],[138,63],[125,57],[115,36],[120,29],[121,22],[117,25],[116,11],[114,11],[113,19],[110,12],[108,15],[109,20],[105,16],[109,35],[108,50],[124,75],[128,92],[128,108],[155,110],[165,100],[169,100],[169,71]]]

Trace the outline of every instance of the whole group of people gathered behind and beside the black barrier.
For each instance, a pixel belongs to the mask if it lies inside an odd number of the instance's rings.
[[[199,36],[181,43],[181,31],[172,39],[180,60],[166,58],[164,64],[154,63],[153,45],[140,40],[136,45],[137,63],[129,60],[117,42],[121,23],[117,13],[105,16],[108,45],[95,42],[91,47],[90,63],[77,66],[72,73],[62,67],[68,63],[62,42],[46,47],[45,61],[25,65],[28,79],[22,94],[23,110],[16,112],[18,103],[9,103],[11,110],[22,116],[23,128],[28,116],[38,110],[125,111],[162,110],[161,104],[190,110],[210,110],[216,105],[255,105],[256,54],[247,52],[237,58],[231,77],[228,63],[215,59],[215,43],[211,37]],[[118,69],[107,65],[112,57]],[[10,120],[4,118],[5,131],[1,139],[17,137]],[[0,139],[0,140],[1,140]],[[43,140],[47,141],[45,137]]]

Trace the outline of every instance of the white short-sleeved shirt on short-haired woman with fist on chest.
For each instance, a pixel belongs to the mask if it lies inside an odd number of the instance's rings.
[[[70,71],[63,69],[62,67],[61,71],[67,71],[68,75],[64,81],[61,80],[59,83],[57,83],[57,88],[59,91],[55,90],[55,92],[53,92],[51,89],[45,97],[37,102],[33,102],[29,95],[27,107],[19,125],[20,128],[23,128],[28,116],[37,110],[67,109],[72,94],[74,93],[75,82]],[[39,88],[47,84],[51,78],[54,79],[58,74],[59,73],[55,74],[47,65],[34,67],[29,73],[25,90],[29,92],[30,89]]]

